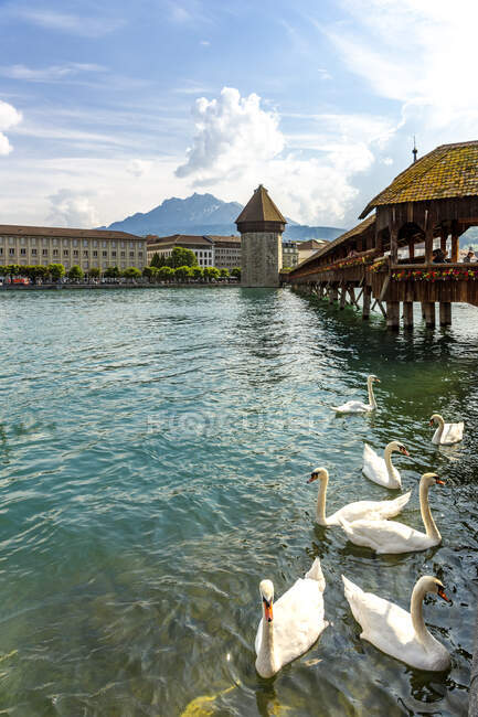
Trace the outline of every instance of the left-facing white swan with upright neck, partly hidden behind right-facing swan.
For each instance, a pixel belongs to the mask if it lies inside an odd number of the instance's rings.
[[[317,494],[316,521],[319,525],[326,526],[340,525],[341,517],[344,517],[349,523],[363,517],[369,520],[394,517],[399,515],[412,495],[412,492],[408,491],[408,493],[399,495],[393,501],[357,501],[355,503],[344,505],[329,517],[326,517],[326,494],[329,471],[326,468],[316,468],[307,482],[311,483],[316,480],[320,480],[319,492]]]

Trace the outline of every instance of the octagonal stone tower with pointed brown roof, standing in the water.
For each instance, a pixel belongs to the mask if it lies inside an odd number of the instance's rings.
[[[278,287],[287,222],[262,184],[235,223],[241,233],[241,286]]]

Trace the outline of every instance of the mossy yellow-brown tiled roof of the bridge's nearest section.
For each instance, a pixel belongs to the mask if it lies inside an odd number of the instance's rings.
[[[478,141],[440,145],[378,194],[360,218],[382,204],[478,195]]]

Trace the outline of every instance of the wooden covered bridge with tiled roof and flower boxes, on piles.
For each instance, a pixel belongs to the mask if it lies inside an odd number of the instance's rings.
[[[359,218],[361,224],[290,271],[294,289],[338,301],[341,309],[351,303],[364,319],[378,307],[391,329],[400,325],[401,302],[408,328],[414,302],[428,327],[435,325],[436,303],[442,325],[452,323],[452,303],[478,306],[478,264],[458,263],[460,235],[478,225],[478,141],[425,154]]]

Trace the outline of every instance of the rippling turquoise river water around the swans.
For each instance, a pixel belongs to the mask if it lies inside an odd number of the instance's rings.
[[[478,311],[386,333],[289,290],[151,289],[0,296],[0,715],[466,714],[477,597]],[[365,398],[379,409],[337,417]],[[428,418],[466,421],[431,443]],[[421,528],[417,481],[443,535],[374,556],[328,510],[390,497],[361,473],[391,439]],[[396,495],[396,493],[393,493]],[[320,556],[330,627],[273,679],[254,668],[259,580],[280,596]],[[407,608],[421,575],[447,604],[425,619],[452,668],[412,670],[360,640],[340,575]]]

